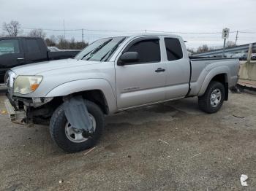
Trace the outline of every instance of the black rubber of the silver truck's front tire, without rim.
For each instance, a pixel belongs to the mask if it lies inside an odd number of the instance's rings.
[[[53,116],[50,119],[50,136],[53,141],[66,152],[80,152],[84,149],[89,149],[97,143],[97,140],[99,140],[99,137],[102,135],[105,126],[105,118],[102,110],[97,104],[91,101],[86,101],[86,107],[89,114],[91,114],[96,121],[96,128],[91,137],[81,143],[70,141],[66,136],[65,125],[67,124],[67,118],[64,113],[64,105],[61,104],[61,106],[53,112]]]

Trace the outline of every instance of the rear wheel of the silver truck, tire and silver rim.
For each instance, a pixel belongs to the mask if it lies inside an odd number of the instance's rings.
[[[212,81],[206,93],[198,97],[198,105],[203,112],[215,113],[222,107],[225,98],[225,87],[220,82]]]

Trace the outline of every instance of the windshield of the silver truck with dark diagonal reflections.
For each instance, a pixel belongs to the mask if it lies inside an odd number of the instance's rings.
[[[108,61],[121,42],[127,37],[118,36],[113,38],[99,39],[82,50],[75,59],[84,61]]]

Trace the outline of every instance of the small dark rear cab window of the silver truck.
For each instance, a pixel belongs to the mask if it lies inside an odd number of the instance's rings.
[[[183,58],[181,43],[176,38],[165,38],[165,48],[168,61],[176,61]]]

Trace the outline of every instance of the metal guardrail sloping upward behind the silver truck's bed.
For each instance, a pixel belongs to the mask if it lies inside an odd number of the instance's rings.
[[[236,47],[226,47],[226,53],[238,53],[238,52],[247,52],[249,49],[249,44],[244,44]],[[252,43],[252,50],[256,50],[256,42]],[[211,50],[208,52],[193,54],[193,56],[214,56],[214,55],[222,55],[223,49]]]

